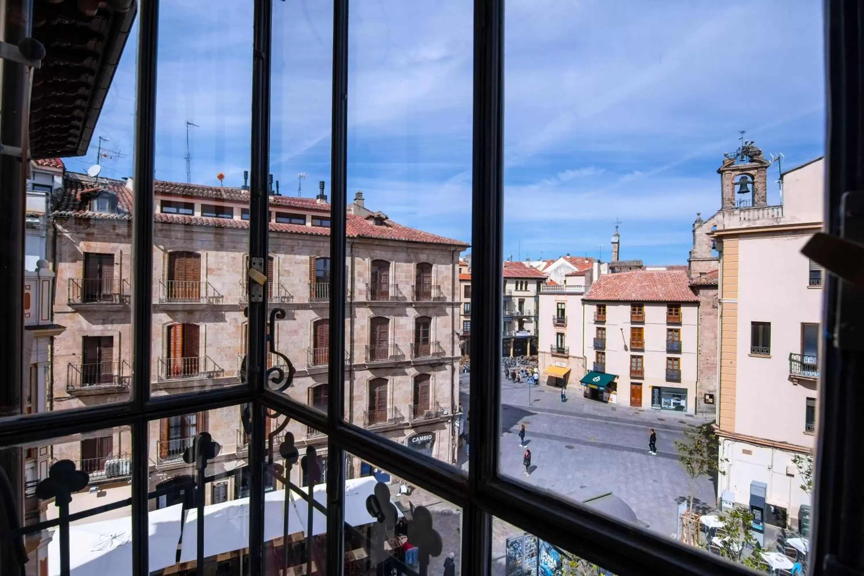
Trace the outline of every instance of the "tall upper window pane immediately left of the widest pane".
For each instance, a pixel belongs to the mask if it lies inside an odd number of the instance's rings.
[[[346,419],[448,464],[464,458],[472,22],[465,0],[388,0],[349,23]]]

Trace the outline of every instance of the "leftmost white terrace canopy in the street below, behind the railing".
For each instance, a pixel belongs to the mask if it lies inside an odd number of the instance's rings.
[[[149,513],[150,572],[173,566],[180,540],[182,505]],[[69,527],[71,576],[107,576],[132,573],[132,519],[130,516]],[[60,574],[60,529],[48,543],[48,574]]]

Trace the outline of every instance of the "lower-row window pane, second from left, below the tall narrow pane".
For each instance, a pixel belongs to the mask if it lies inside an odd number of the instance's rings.
[[[154,573],[162,573],[153,564],[156,551],[165,559],[164,573],[194,573],[200,510],[205,573],[249,573],[248,427],[243,406],[149,422],[149,548]],[[200,460],[202,469],[196,465],[199,453],[209,455]],[[200,495],[199,482],[204,485]],[[166,519],[176,523],[176,535],[164,534]]]

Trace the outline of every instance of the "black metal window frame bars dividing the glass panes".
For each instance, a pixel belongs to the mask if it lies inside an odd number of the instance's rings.
[[[253,89],[251,126],[250,256],[266,262],[268,256],[268,152],[270,139],[270,41],[272,0],[254,2]],[[864,242],[864,210],[842,212],[861,202],[855,193],[864,189],[864,5],[856,0],[825,2],[829,123],[825,228],[829,233]],[[264,414],[275,409],[328,436],[327,534],[344,529],[343,499],[346,453],[350,452],[423,490],[460,506],[462,516],[461,573],[486,576],[491,572],[492,517],[511,522],[619,574],[746,574],[745,568],[727,563],[696,548],[638,531],[607,516],[549,492],[540,491],[499,474],[499,406],[497,385],[501,365],[501,322],[504,286],[503,262],[503,35],[504,1],[474,0],[473,38],[473,226],[472,282],[480,294],[495,297],[474,301],[471,339],[469,435],[473,450],[469,472],[418,455],[344,421],[345,390],[332,385],[328,413],[278,394],[266,382],[265,332],[267,303],[249,304],[248,379],[245,386],[151,398],[150,330],[153,240],[154,127],[156,125],[156,50],[158,0],[141,0],[135,118],[136,181],[133,222],[133,398],[112,404],[0,421],[0,446],[49,440],[66,434],[106,427],[132,430],[132,544],[135,574],[148,573],[149,421],[171,415],[248,403],[251,405],[250,443],[250,557],[251,574],[263,573],[264,558]],[[346,257],[346,135],[348,69],[348,0],[334,0],[333,122],[332,122],[332,228],[330,258]],[[858,193],[861,194],[861,193]],[[330,351],[328,380],[344,382],[346,269],[331,270]],[[816,573],[860,573],[864,568],[861,514],[864,510],[861,468],[864,445],[856,407],[864,401],[861,380],[861,292],[828,275],[823,312],[823,386],[817,419],[815,535],[810,562]],[[264,293],[266,298],[266,292]],[[857,314],[857,315],[856,315]],[[14,322],[10,322],[14,325]],[[13,326],[14,327],[14,326]],[[857,332],[854,329],[857,328]],[[19,332],[20,333],[20,332]],[[836,334],[836,335],[835,335]],[[9,363],[21,363],[20,348],[4,351]],[[9,370],[18,381],[21,367]],[[327,574],[340,576],[344,539],[329,538]],[[848,571],[848,572],[844,572]],[[854,572],[853,572],[854,571]]]

